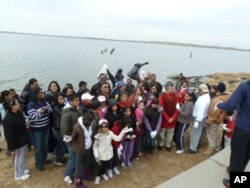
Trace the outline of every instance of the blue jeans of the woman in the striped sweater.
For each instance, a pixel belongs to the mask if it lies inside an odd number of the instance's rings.
[[[43,131],[32,131],[37,170],[43,170],[48,154],[49,128]]]

